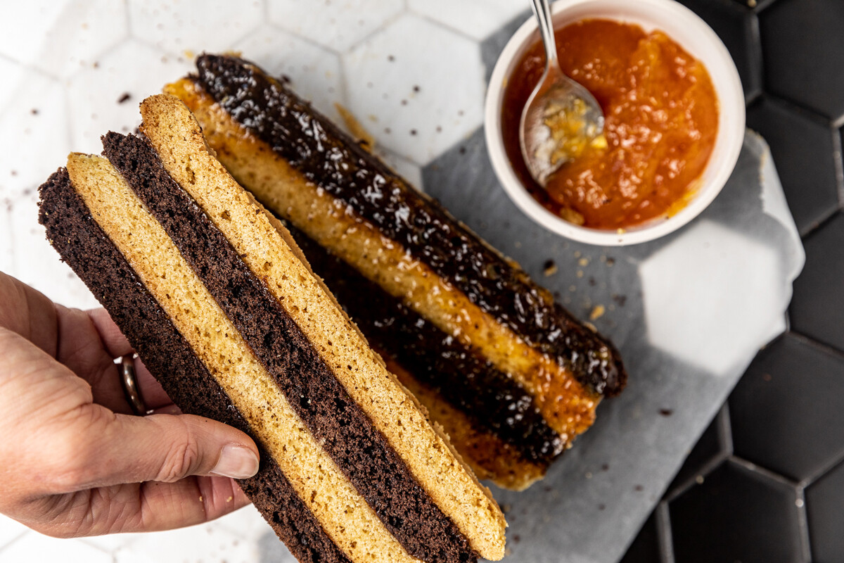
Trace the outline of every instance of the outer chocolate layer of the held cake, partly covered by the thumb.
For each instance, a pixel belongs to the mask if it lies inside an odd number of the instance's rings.
[[[200,414],[251,434],[246,421],[190,344],[146,290],[59,169],[40,188],[39,221],[52,246],[106,307],[168,396],[187,414]],[[300,561],[351,563],[300,500],[273,457],[239,484]]]

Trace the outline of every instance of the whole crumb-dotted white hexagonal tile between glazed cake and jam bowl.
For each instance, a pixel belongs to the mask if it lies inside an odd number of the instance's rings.
[[[420,165],[483,122],[475,41],[403,15],[343,57],[349,109],[376,141]]]

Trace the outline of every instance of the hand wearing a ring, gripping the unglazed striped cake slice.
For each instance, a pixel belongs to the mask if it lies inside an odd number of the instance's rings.
[[[156,414],[131,415],[112,360],[131,351],[105,310],[56,305],[0,273],[0,512],[68,538],[178,528],[247,504],[230,478],[257,471],[249,436],[165,414],[177,409],[139,361]]]

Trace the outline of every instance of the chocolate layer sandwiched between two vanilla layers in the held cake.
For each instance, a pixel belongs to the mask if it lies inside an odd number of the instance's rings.
[[[312,436],[399,543],[424,560],[475,560],[457,527],[415,482],[262,281],[167,174],[154,150],[141,138],[117,133],[109,133],[104,146],[112,165],[176,243]]]

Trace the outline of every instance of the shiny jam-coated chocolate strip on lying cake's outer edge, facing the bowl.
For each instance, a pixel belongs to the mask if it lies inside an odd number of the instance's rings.
[[[417,260],[598,394],[617,395],[626,372],[612,344],[414,191],[278,80],[237,57],[202,55],[192,77],[230,116],[309,181],[342,200]]]

